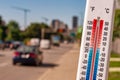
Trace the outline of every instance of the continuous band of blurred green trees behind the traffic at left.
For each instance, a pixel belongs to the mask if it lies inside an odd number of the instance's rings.
[[[2,17],[0,17],[0,22],[2,23]],[[49,27],[44,23],[32,23],[27,27],[25,31],[21,31],[19,24],[11,20],[4,26],[5,24],[0,24],[0,40],[21,40],[25,42],[30,38],[41,38],[41,30],[42,28],[47,28],[48,32],[45,33],[45,38],[50,38],[51,32]]]

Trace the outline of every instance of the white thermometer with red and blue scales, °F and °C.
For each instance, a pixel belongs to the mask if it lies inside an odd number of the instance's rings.
[[[87,0],[76,80],[107,80],[114,0]]]

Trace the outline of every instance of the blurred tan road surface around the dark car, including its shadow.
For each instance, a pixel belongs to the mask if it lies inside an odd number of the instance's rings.
[[[59,66],[56,62],[72,47],[73,44],[61,44],[60,47],[43,50],[43,65],[38,67],[13,66],[12,56],[14,51],[0,50],[0,80],[37,80],[48,69]]]

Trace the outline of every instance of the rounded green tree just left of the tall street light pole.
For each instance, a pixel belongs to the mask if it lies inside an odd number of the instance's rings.
[[[7,38],[6,40],[20,40],[20,28],[19,28],[19,24],[14,21],[11,20],[8,25],[8,30],[7,30]]]

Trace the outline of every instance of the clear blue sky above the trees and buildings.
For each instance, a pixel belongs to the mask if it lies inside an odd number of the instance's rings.
[[[0,0],[0,15],[6,23],[15,20],[21,28],[24,26],[24,12],[14,9],[20,7],[29,9],[27,25],[31,22],[44,22],[42,17],[48,19],[48,24],[53,19],[59,19],[72,27],[72,16],[79,17],[79,25],[83,20],[86,0]]]

